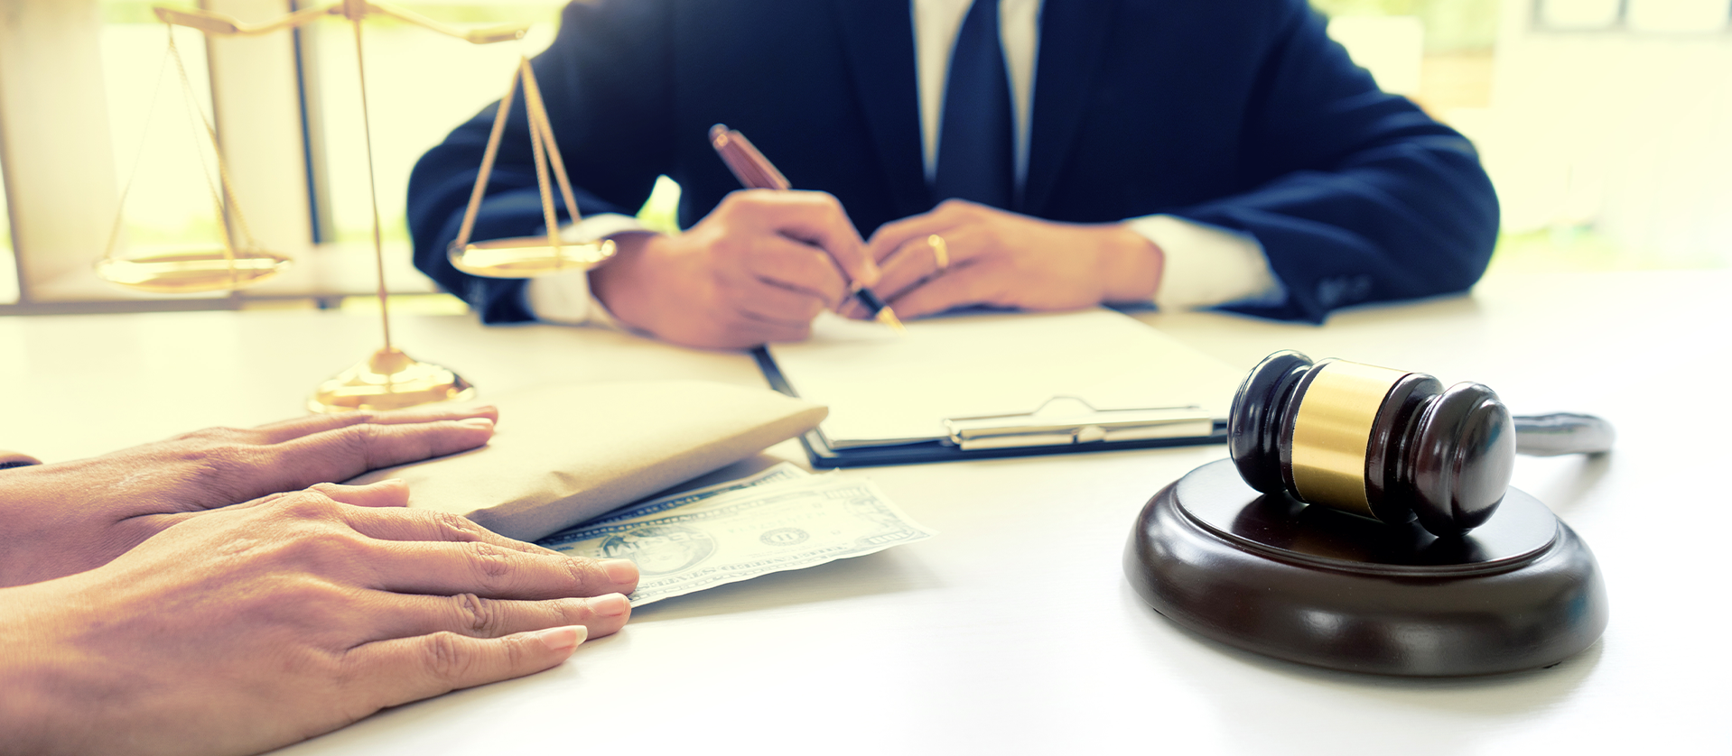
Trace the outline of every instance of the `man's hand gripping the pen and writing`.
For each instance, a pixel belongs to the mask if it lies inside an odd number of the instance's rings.
[[[589,273],[591,291],[620,322],[686,346],[804,339],[819,311],[847,299],[849,280],[878,279],[842,204],[823,192],[740,190],[684,234],[615,244],[618,258]]]

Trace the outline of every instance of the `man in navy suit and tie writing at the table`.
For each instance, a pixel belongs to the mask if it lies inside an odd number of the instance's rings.
[[[1472,145],[1379,92],[1304,0],[587,0],[533,67],[585,215],[566,234],[620,254],[528,284],[454,270],[478,114],[416,166],[409,221],[417,266],[487,322],[738,348],[859,315],[850,282],[902,317],[1154,301],[1322,322],[1464,291],[1496,235]],[[802,190],[736,192],[715,123]],[[663,173],[679,235],[629,218]],[[542,228],[516,106],[475,239]]]

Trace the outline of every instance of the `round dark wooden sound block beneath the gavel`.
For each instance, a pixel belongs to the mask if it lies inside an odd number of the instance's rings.
[[[1231,460],[1143,507],[1124,574],[1167,619],[1280,659],[1375,675],[1554,664],[1606,630],[1593,552],[1509,490],[1460,538],[1263,495]]]

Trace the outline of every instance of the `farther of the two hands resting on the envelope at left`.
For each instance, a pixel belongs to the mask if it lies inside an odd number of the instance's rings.
[[[197,512],[480,446],[497,417],[492,407],[313,415],[0,471],[0,586],[99,567]]]

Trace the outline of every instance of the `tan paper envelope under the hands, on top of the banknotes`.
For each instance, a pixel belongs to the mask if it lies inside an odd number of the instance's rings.
[[[703,381],[544,386],[490,398],[487,446],[372,471],[409,505],[461,514],[532,541],[811,431],[826,408]]]

